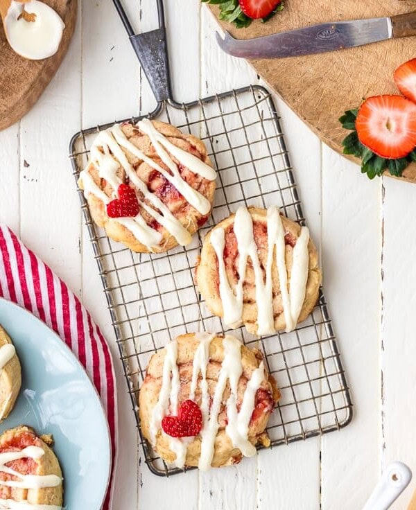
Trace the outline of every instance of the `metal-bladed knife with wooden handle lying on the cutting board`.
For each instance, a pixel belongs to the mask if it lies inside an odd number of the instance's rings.
[[[228,32],[216,39],[229,55],[243,58],[285,58],[326,53],[397,37],[416,35],[416,11],[407,14],[306,26],[253,39],[234,39]]]

